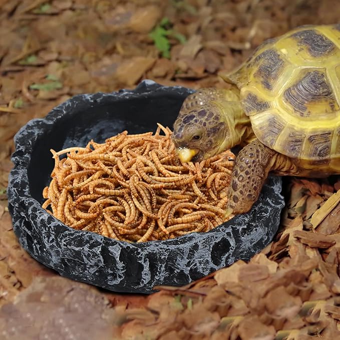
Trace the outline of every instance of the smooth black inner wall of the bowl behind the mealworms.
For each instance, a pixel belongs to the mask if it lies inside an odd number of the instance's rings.
[[[44,131],[34,146],[28,171],[32,197],[40,203],[44,201],[42,191],[51,181],[54,166],[50,149],[83,147],[91,139],[103,143],[124,130],[129,134],[155,131],[157,123],[172,129],[187,95],[163,92],[137,98],[108,97],[105,102],[70,111],[57,120],[51,131]]]

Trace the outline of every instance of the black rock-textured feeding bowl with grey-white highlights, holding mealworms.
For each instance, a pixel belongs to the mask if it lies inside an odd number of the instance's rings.
[[[50,149],[85,146],[123,130],[130,134],[172,127],[192,90],[143,81],[135,90],[78,95],[16,135],[8,196],[14,231],[39,262],[61,275],[120,292],[150,293],[155,285],[183,285],[237,259],[249,259],[277,231],[284,205],[281,180],[270,177],[251,211],[207,233],[166,241],[127,243],[74,230],[42,207],[50,181]]]

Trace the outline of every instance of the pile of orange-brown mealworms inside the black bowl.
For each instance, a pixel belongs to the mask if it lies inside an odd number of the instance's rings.
[[[103,144],[51,150],[55,166],[43,208],[72,228],[129,242],[223,223],[234,155],[181,163],[170,136],[158,124],[154,135],[124,131]]]

